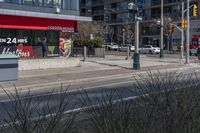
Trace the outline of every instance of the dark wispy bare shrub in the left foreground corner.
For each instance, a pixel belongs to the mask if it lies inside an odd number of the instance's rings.
[[[2,88],[3,89],[3,88]],[[47,96],[34,97],[28,91],[23,95],[4,90],[10,103],[3,103],[2,132],[5,133],[73,133],[74,121],[79,112],[65,114],[66,108],[74,108],[73,94],[62,89]]]

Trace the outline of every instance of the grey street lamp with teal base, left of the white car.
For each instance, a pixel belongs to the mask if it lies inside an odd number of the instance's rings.
[[[128,3],[128,10],[135,11],[135,52],[133,58],[133,69],[140,69],[140,55],[139,55],[139,17],[138,17],[138,6],[134,2]]]

